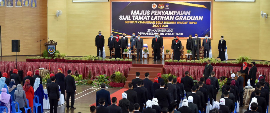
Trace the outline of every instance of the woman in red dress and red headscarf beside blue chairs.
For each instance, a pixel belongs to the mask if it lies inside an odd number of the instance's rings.
[[[24,86],[22,89],[25,91],[26,98],[29,100],[29,107],[31,107],[32,113],[34,112],[33,110],[33,99],[34,99],[34,89],[30,85],[30,80],[26,79],[24,82]]]

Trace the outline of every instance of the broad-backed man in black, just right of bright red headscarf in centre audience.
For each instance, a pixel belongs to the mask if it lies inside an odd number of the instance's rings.
[[[184,84],[184,89],[186,91],[186,94],[189,95],[191,93],[191,87],[194,86],[193,79],[189,77],[189,72],[185,72],[185,76],[181,78],[181,83]]]

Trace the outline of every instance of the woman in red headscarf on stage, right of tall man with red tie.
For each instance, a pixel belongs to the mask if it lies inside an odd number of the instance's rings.
[[[176,37],[176,39],[173,41],[172,47],[173,47],[173,54],[174,54],[173,59],[179,61],[181,57],[182,43],[178,37]]]

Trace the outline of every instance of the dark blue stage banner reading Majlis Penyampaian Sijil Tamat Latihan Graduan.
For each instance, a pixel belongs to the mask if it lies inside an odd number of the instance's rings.
[[[211,2],[112,2],[112,33],[211,38]]]

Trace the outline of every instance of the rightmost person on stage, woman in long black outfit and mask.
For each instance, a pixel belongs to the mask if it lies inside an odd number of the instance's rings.
[[[223,36],[221,36],[220,41],[218,42],[218,58],[221,59],[221,61],[225,61],[225,51],[226,51],[226,41],[223,40]]]

